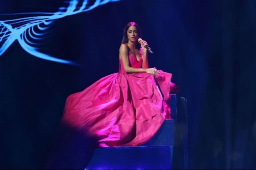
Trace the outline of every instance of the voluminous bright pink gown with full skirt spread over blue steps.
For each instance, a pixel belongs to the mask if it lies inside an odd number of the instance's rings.
[[[129,62],[142,66],[142,58],[130,55]],[[96,138],[100,147],[141,145],[171,119],[172,74],[126,73],[122,60],[120,68],[66,99],[61,123]]]

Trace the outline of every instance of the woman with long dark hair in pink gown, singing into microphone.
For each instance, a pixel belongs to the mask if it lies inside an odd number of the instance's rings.
[[[129,22],[123,31],[119,73],[103,77],[83,91],[68,96],[57,147],[72,148],[70,152],[77,148],[79,153],[88,153],[85,145],[138,146],[149,141],[165,119],[171,119],[172,75],[148,68],[145,48],[148,44],[143,40],[138,42],[141,38],[138,24]],[[73,144],[67,144],[68,139]],[[54,149],[58,150],[57,147]],[[62,155],[70,154],[60,150]]]

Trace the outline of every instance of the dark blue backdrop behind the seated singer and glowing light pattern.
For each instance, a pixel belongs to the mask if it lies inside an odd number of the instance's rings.
[[[0,13],[62,4],[1,0]],[[255,169],[255,11],[254,0],[122,0],[56,20],[45,52],[81,66],[36,58],[15,41],[0,56],[0,168],[43,168],[66,97],[118,71],[122,29],[135,21],[154,51],[150,67],[173,73],[188,99],[189,167]]]

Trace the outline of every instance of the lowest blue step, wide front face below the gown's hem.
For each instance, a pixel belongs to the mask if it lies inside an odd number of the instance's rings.
[[[172,146],[96,149],[85,169],[172,169]]]

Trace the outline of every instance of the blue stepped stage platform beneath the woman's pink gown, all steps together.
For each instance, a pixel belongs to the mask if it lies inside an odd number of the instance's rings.
[[[96,149],[86,169],[172,169],[177,96],[170,96],[172,120],[165,120],[152,139],[141,146]]]

